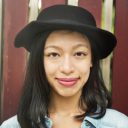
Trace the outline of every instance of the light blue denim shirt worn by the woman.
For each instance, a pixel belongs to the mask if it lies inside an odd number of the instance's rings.
[[[53,122],[50,118],[46,117],[46,123],[48,128],[52,128]],[[3,122],[0,127],[20,128],[20,125],[17,121],[17,116],[14,116]],[[67,128],[71,127],[69,126]],[[94,119],[88,116],[85,117],[81,124],[81,128],[128,128],[128,117],[116,110],[107,109],[105,116],[101,119]]]

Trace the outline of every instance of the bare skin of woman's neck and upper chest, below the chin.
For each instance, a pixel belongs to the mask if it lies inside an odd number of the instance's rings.
[[[80,128],[81,121],[75,120],[74,116],[83,114],[79,109],[79,95],[63,98],[54,96],[49,108],[50,118],[53,121],[53,128]]]

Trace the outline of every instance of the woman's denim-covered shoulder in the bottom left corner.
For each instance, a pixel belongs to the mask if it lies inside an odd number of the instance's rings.
[[[8,120],[4,121],[0,128],[20,128],[20,125],[17,120],[17,116],[13,116]]]

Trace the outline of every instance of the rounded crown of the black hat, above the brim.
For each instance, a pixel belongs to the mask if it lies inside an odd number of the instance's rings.
[[[96,21],[93,15],[81,8],[72,5],[54,5],[52,7],[42,10],[37,18],[39,22],[62,22],[62,23],[75,23],[81,25],[96,26]]]

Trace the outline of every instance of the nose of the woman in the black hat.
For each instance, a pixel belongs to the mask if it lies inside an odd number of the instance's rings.
[[[70,75],[74,72],[74,66],[71,57],[65,56],[60,65],[60,71],[65,75]]]

